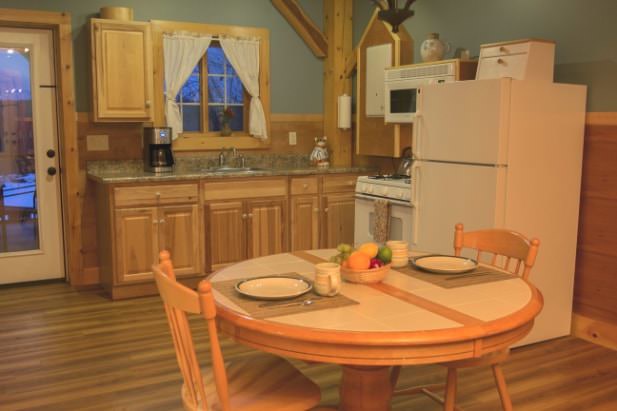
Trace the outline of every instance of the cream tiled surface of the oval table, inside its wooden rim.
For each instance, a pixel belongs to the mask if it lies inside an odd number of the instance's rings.
[[[334,250],[314,250],[310,255],[327,260]],[[298,272],[313,278],[314,264],[290,253],[241,262],[217,272],[213,283],[268,274]],[[387,290],[410,295],[401,299]],[[378,287],[343,282],[341,293],[359,304],[328,308],[268,321],[332,331],[413,332],[448,330],[483,324],[514,314],[530,303],[532,289],[519,278],[445,289],[392,269]],[[217,303],[247,314],[215,290]]]

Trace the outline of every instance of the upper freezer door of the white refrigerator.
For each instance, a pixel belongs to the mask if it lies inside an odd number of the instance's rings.
[[[422,86],[414,156],[422,160],[506,164],[511,79]]]

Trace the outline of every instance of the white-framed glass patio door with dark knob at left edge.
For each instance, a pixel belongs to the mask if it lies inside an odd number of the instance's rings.
[[[0,27],[0,284],[64,277],[53,38]]]

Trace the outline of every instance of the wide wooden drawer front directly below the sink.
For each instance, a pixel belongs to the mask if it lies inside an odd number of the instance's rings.
[[[206,181],[205,201],[287,195],[287,178],[249,178],[242,181]]]

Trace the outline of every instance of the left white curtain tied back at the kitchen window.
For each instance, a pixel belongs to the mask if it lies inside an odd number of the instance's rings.
[[[211,42],[211,36],[194,36],[186,33],[163,35],[165,118],[167,126],[172,129],[174,140],[183,131],[182,116],[180,107],[176,103],[176,96]]]

